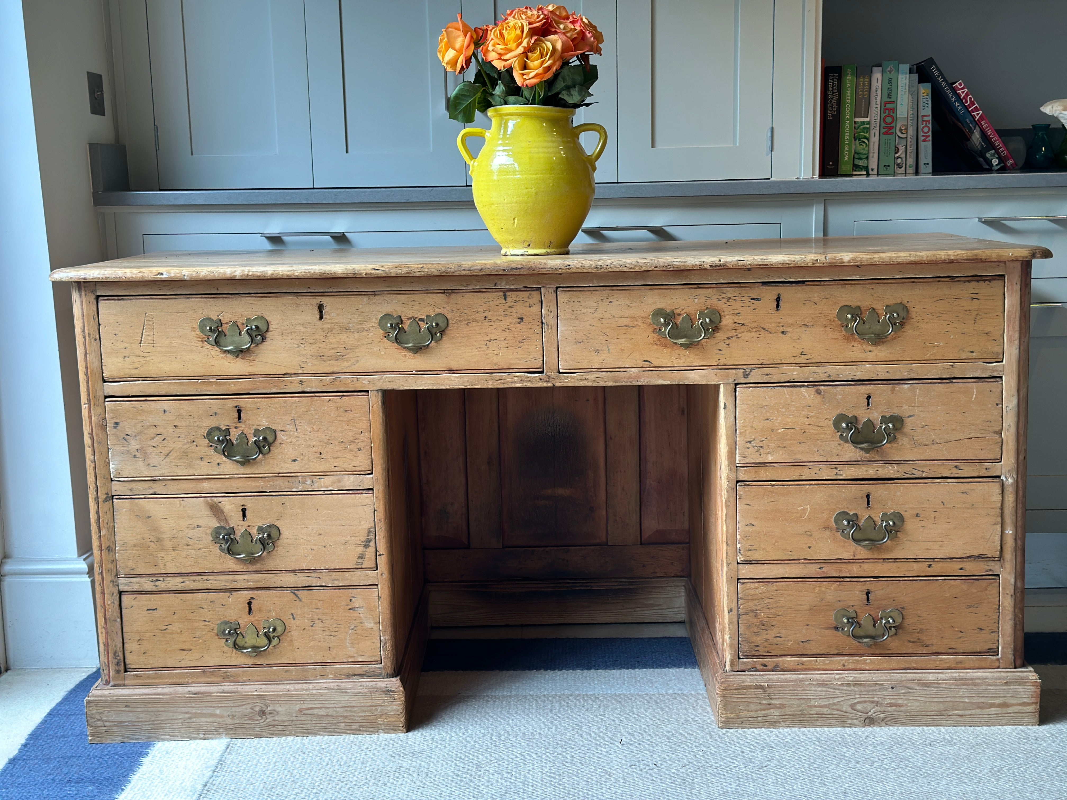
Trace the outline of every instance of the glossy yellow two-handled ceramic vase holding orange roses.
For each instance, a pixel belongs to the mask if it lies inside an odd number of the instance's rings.
[[[601,125],[574,126],[574,109],[551,106],[497,106],[493,126],[464,128],[456,143],[471,166],[474,204],[506,256],[560,255],[570,252],[593,202],[593,172],[607,144]],[[586,153],[578,134],[600,134]],[[478,158],[468,137],[483,137]]]

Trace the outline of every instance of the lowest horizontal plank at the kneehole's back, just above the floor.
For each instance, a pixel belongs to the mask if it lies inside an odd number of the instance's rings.
[[[431,583],[430,624],[584,625],[681,622],[684,578]]]

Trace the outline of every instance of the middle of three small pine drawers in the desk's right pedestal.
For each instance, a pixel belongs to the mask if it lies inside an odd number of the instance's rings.
[[[842,511],[857,515],[859,530],[834,524]],[[894,512],[899,519],[882,524]],[[743,562],[997,559],[1001,527],[999,480],[737,484]],[[889,533],[885,544],[867,547],[845,538],[870,542]]]

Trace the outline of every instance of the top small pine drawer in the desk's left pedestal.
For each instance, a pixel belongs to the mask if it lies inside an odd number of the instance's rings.
[[[370,471],[366,394],[109,400],[106,416],[118,480]],[[228,443],[209,442],[212,428],[228,429]],[[256,447],[255,431],[268,428],[273,443]]]

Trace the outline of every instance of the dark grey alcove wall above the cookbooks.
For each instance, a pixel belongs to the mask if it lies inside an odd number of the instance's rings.
[[[827,64],[913,64],[933,55],[949,80],[967,84],[997,128],[1058,125],[1038,109],[1067,97],[1065,33],[1065,0],[823,4]]]

